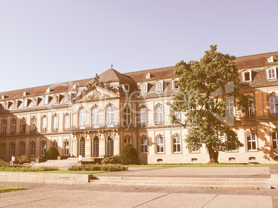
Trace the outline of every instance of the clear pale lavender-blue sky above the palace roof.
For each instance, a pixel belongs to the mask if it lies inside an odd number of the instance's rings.
[[[277,51],[278,1],[0,0],[0,91]]]

